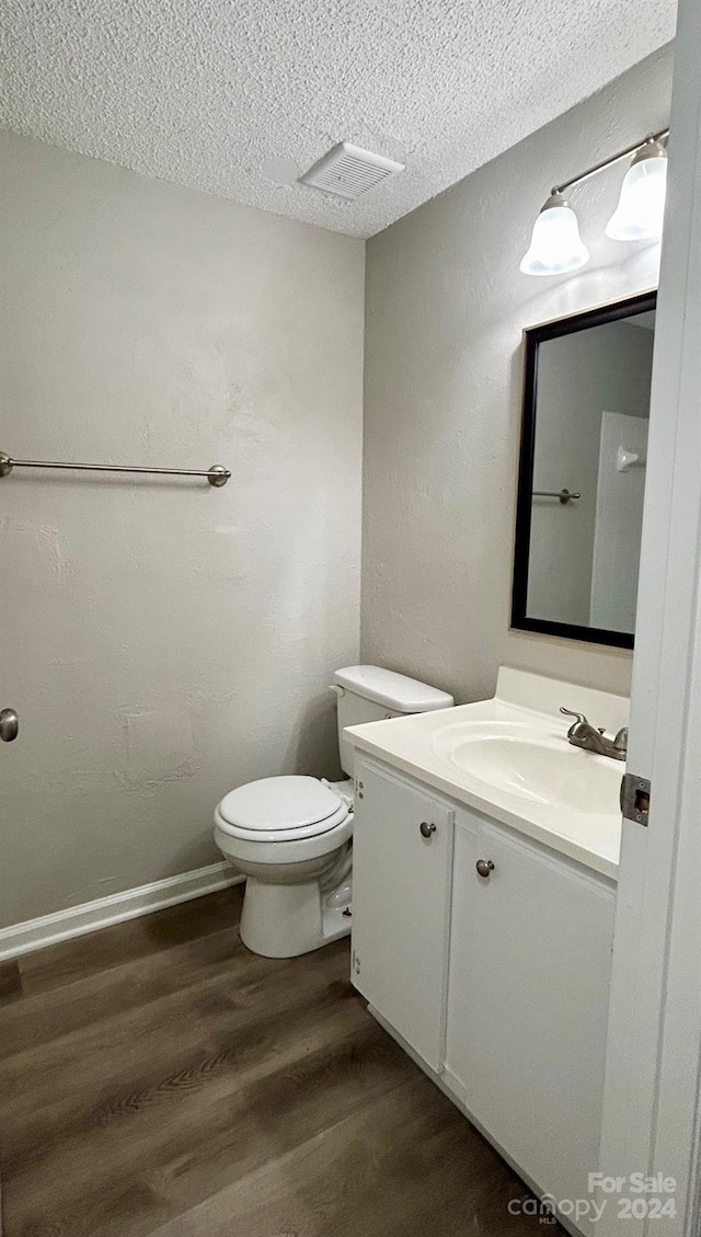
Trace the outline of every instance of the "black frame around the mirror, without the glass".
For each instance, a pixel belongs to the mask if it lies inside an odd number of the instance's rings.
[[[548,618],[530,618],[527,615],[533,464],[535,456],[535,404],[538,398],[538,349],[548,339],[572,335],[575,332],[585,330],[588,327],[601,327],[607,322],[628,318],[633,313],[645,313],[655,309],[656,303],[656,291],[643,292],[639,296],[627,297],[624,301],[616,301],[597,309],[586,309],[584,313],[559,318],[542,327],[528,328],[523,333],[523,412],[513,555],[512,630],[539,632],[543,636],[564,636],[567,640],[580,640],[588,644],[611,644],[614,648],[633,648],[634,637],[628,632],[555,622]]]

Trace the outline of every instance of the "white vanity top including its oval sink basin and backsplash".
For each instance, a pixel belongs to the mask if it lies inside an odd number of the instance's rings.
[[[622,696],[502,667],[492,700],[346,730],[356,752],[617,880],[623,761],[567,742],[563,701],[618,731]]]

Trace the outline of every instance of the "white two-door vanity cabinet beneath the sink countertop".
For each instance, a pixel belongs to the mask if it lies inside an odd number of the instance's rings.
[[[613,881],[356,762],[355,986],[538,1192],[587,1199]]]

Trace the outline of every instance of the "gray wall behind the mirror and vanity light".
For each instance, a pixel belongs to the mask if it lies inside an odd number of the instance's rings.
[[[631,656],[509,632],[522,332],[656,283],[603,236],[621,183],[572,194],[592,263],[519,273],[549,188],[669,118],[671,48],[368,241],[362,657],[490,694],[501,663],[627,691]],[[576,703],[576,701],[575,701]]]

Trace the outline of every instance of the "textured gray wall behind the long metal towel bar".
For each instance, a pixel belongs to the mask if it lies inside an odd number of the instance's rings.
[[[357,657],[363,246],[5,136],[0,448],[206,468],[1,485],[0,924],[219,858],[336,772]]]

